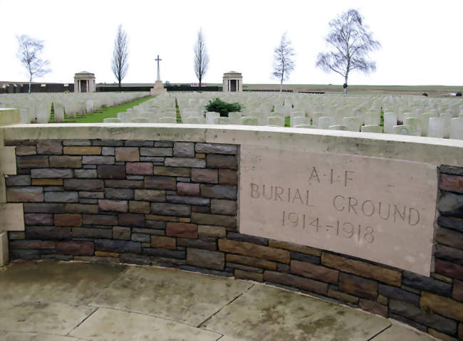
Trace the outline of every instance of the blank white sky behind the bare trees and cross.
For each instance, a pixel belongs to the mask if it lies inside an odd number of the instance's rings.
[[[45,41],[43,58],[51,61],[52,72],[36,81],[73,83],[74,73],[87,70],[97,83],[113,83],[110,61],[122,23],[130,50],[123,83],[154,82],[157,54],[163,81],[197,82],[193,46],[202,26],[206,83],[222,83],[229,70],[241,72],[244,83],[278,83],[271,65],[287,31],[296,68],[286,83],[342,84],[315,62],[327,48],[328,22],[350,8],[383,46],[370,54],[376,72],[351,73],[350,85],[463,85],[463,0],[0,0],[0,80],[28,80],[16,58],[16,35],[28,34]]]

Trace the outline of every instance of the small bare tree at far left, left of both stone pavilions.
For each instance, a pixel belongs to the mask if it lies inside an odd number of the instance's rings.
[[[26,67],[29,73],[29,91],[31,93],[31,83],[34,77],[42,77],[51,72],[48,68],[50,61],[43,61],[40,55],[43,50],[43,41],[31,38],[27,35],[16,36],[18,39],[19,47],[16,56],[21,63]]]

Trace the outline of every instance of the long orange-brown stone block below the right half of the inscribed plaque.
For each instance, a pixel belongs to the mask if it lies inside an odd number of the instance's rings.
[[[363,261],[355,261],[350,258],[336,256],[331,253],[323,252],[321,255],[321,263],[324,266],[335,268],[354,275],[363,276],[380,280],[383,283],[400,286],[402,282],[400,271],[374,266]]]

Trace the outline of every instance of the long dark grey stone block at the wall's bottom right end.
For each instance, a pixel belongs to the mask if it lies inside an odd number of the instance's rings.
[[[427,325],[436,330],[447,332],[448,334],[454,334],[457,331],[457,323],[443,318],[434,313],[426,313],[420,308],[410,303],[401,302],[399,300],[389,301],[390,313],[403,316],[409,320],[416,321],[422,325]],[[433,311],[433,309],[430,309]]]

